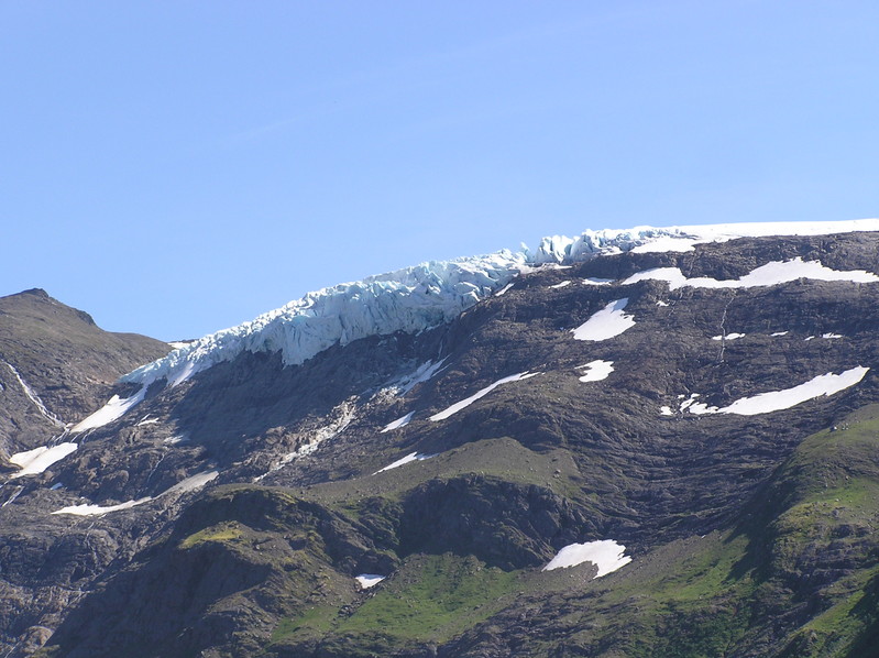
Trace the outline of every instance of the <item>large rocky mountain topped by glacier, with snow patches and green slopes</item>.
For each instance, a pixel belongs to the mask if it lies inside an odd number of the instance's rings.
[[[138,339],[156,353],[64,428],[4,351],[50,416],[25,395],[7,448],[43,461],[0,489],[0,641],[869,656],[878,301],[876,220],[639,228],[326,288],[166,355]]]

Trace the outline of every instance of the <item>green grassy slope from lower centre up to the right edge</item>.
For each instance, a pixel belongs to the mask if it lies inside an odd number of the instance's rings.
[[[809,437],[744,523],[640,556],[600,580],[570,586],[536,570],[486,569],[473,558],[413,556],[349,615],[284,622],[344,646],[442,644],[469,627],[503,627],[513,611],[551,601],[530,655],[861,656],[876,634],[879,597],[879,406]],[[560,612],[559,612],[560,611]],[[506,615],[506,616],[504,616]],[[542,639],[541,639],[542,637]],[[294,646],[296,643],[293,643]]]

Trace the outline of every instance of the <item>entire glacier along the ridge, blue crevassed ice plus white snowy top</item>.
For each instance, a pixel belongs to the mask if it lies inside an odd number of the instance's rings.
[[[397,331],[418,333],[450,322],[481,299],[505,292],[519,274],[540,265],[568,266],[626,251],[688,251],[696,243],[744,237],[851,231],[879,231],[879,219],[636,227],[589,230],[574,238],[552,235],[543,238],[536,251],[523,245],[519,251],[431,261],[308,293],[251,321],[184,343],[121,381],[149,386],[165,380],[173,387],[244,352],[279,351],[285,365],[297,365],[328,348],[361,338]]]

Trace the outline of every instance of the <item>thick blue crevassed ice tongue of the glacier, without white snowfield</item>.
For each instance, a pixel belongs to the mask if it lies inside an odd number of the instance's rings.
[[[336,346],[396,331],[417,333],[449,322],[517,276],[523,253],[431,262],[309,293],[231,329],[196,340],[124,375],[124,382],[172,386],[239,354],[279,351],[304,363]]]

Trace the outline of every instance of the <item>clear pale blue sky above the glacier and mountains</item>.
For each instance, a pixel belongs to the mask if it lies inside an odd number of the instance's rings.
[[[879,3],[0,3],[0,295],[195,338],[426,260],[879,216]]]

